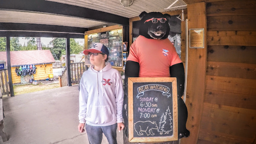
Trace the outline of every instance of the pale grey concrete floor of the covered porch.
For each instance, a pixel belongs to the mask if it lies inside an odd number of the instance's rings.
[[[77,85],[4,97],[3,105],[8,141],[0,137],[0,144],[89,144],[77,128]],[[122,136],[117,131],[118,144]],[[105,136],[102,144],[108,144]]]

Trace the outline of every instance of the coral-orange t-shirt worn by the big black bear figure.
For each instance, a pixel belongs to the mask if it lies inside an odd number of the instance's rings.
[[[139,77],[170,77],[170,66],[182,62],[168,38],[155,40],[144,36],[132,43],[127,60],[140,64]]]

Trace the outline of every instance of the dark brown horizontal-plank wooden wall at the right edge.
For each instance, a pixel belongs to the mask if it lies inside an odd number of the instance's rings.
[[[256,0],[206,0],[198,144],[256,144]]]

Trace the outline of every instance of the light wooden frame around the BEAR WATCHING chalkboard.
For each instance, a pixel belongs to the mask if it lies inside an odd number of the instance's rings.
[[[134,137],[133,124],[133,84],[139,82],[172,82],[173,98],[173,135],[156,137]],[[166,142],[178,140],[178,99],[177,99],[177,81],[176,78],[128,78],[128,126],[129,142]]]

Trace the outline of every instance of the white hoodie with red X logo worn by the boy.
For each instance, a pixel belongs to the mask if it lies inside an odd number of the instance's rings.
[[[106,65],[99,72],[94,65],[80,81],[79,122],[90,126],[110,126],[123,122],[124,102],[122,78],[118,70]]]

